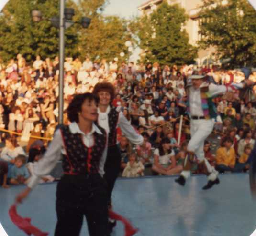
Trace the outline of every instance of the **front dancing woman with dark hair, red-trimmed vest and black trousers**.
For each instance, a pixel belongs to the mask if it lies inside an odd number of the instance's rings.
[[[90,236],[108,236],[108,197],[100,173],[107,154],[107,133],[97,120],[97,98],[78,94],[67,108],[68,126],[61,125],[44,157],[35,164],[27,188],[16,197],[18,203],[62,158],[64,175],[56,191],[55,236],[79,236],[86,216]],[[100,169],[100,170],[99,170]]]

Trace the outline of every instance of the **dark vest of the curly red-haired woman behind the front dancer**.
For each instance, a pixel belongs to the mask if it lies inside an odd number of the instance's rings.
[[[115,107],[111,107],[110,112],[108,114],[108,121],[109,121],[109,146],[116,145],[116,127],[118,123],[118,117],[119,117],[119,112],[116,111]]]

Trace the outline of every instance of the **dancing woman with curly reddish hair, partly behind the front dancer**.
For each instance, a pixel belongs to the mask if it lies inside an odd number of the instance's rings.
[[[104,167],[104,178],[108,184],[108,200],[111,207],[111,195],[115,181],[121,168],[121,153],[117,146],[116,128],[119,126],[124,136],[131,143],[140,145],[143,143],[143,137],[136,133],[133,126],[127,121],[122,112],[118,112],[113,107],[112,101],[115,97],[115,88],[109,82],[97,83],[94,87],[93,94],[99,98],[98,104],[98,124],[108,133],[108,154]],[[115,222],[113,222],[115,226]]]

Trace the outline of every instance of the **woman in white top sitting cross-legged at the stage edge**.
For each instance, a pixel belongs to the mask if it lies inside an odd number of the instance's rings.
[[[182,165],[176,165],[175,154],[170,145],[170,139],[163,138],[159,148],[155,149],[154,164],[152,166],[154,172],[163,175],[172,175],[179,174],[182,171]]]

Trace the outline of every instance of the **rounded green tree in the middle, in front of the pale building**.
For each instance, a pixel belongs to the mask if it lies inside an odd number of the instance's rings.
[[[137,18],[130,24],[138,37],[138,45],[145,52],[143,61],[167,65],[191,63],[197,48],[189,44],[188,33],[182,29],[188,16],[178,4],[163,2],[149,16]]]

